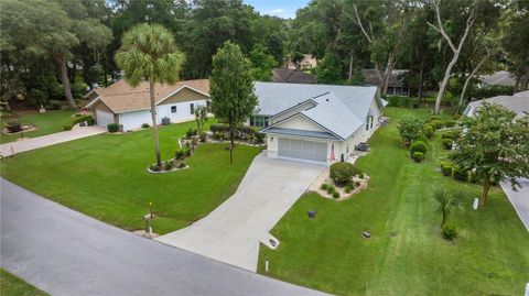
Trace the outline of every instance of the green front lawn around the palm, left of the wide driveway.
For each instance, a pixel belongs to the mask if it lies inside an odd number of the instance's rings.
[[[162,127],[162,158],[174,156],[177,139],[194,122]],[[34,193],[117,227],[143,227],[153,204],[153,231],[177,230],[206,216],[237,189],[260,149],[202,144],[188,169],[149,174],[155,162],[152,131],[100,134],[18,154],[2,161],[1,174]]]

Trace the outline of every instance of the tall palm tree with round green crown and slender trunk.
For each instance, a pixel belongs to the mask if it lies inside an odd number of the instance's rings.
[[[125,80],[133,87],[142,80],[149,81],[156,163],[161,167],[154,86],[156,83],[174,84],[179,80],[184,55],[176,48],[173,34],[159,24],[138,24],[125,33],[121,43],[115,59],[125,72]]]

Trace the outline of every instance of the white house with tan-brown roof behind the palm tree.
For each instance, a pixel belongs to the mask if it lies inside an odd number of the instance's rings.
[[[162,123],[163,118],[169,118],[171,122],[182,122],[194,119],[195,108],[206,105],[209,98],[209,80],[156,84],[154,90],[158,124]],[[143,123],[152,125],[148,81],[131,87],[121,79],[106,88],[96,88],[86,97],[91,99],[86,108],[93,110],[98,125],[117,123],[122,131],[138,129]]]

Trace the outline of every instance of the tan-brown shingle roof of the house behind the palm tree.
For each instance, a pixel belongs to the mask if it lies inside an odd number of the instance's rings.
[[[184,80],[174,85],[156,84],[154,86],[156,105],[183,88],[190,88],[205,96],[209,96],[208,79]],[[96,92],[97,97],[86,106],[87,108],[97,101],[102,101],[112,112],[122,113],[145,110],[151,106],[149,81],[141,81],[137,87],[132,87],[125,79],[121,79],[106,88],[94,89],[87,97],[93,92]]]

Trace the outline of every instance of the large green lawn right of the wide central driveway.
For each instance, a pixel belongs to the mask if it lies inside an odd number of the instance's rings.
[[[276,226],[276,251],[261,246],[259,272],[339,295],[521,295],[529,275],[529,234],[509,201],[494,188],[484,210],[472,200],[479,187],[436,172],[446,156],[440,135],[425,163],[413,163],[400,144],[399,118],[427,110],[387,108],[390,125],[377,131],[371,153],[358,160],[369,187],[336,202],[304,195]],[[445,241],[430,195],[463,189],[466,210],[449,218],[460,237]],[[314,209],[317,217],[306,218]],[[371,239],[360,233],[369,230]]]

